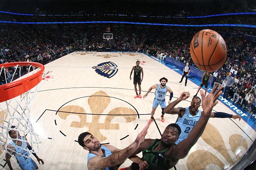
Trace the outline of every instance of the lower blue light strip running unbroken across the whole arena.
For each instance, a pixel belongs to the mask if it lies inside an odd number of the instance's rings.
[[[256,28],[256,25],[249,24],[202,24],[202,25],[183,25],[183,24],[157,24],[144,22],[121,22],[121,21],[80,21],[80,22],[17,22],[17,21],[0,21],[7,24],[99,24],[99,23],[114,23],[114,24],[140,24],[140,25],[162,25],[174,27],[250,27]]]

